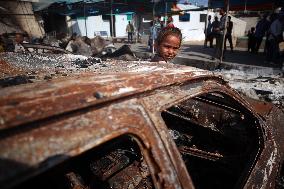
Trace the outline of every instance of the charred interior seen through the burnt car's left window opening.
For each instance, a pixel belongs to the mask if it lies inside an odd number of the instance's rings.
[[[69,158],[16,188],[152,189],[154,185],[136,140],[123,136]]]

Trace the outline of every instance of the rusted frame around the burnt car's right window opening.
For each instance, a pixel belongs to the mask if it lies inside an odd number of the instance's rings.
[[[195,80],[190,81],[188,83],[181,83],[174,86],[168,86],[160,90],[156,90],[155,94],[153,96],[144,99],[144,105],[149,109],[148,114],[150,115],[151,119],[153,119],[153,122],[155,123],[155,126],[158,129],[158,133],[162,133],[161,139],[163,140],[165,146],[171,147],[168,151],[173,151],[172,153],[169,153],[169,156],[171,157],[173,164],[175,165],[176,171],[178,174],[181,172],[180,175],[180,181],[183,185],[183,188],[194,188],[194,183],[192,182],[192,179],[190,177],[190,173],[188,173],[186,166],[181,158],[181,155],[179,151],[177,150],[177,146],[173,139],[170,137],[169,133],[167,133],[167,126],[161,116],[161,112],[166,110],[169,107],[172,107],[180,102],[183,102],[185,100],[188,100],[190,98],[194,98],[196,96],[205,94],[205,93],[224,93],[230,97],[232,97],[236,102],[239,103],[239,105],[243,106],[245,109],[249,111],[249,113],[255,117],[256,120],[261,120],[260,117],[255,114],[252,110],[252,108],[249,106],[249,104],[231,87],[229,87],[227,84],[220,83],[218,80]],[[151,108],[151,103],[154,103],[152,99],[158,99],[160,94],[164,93],[163,95],[170,96],[168,100],[163,99],[162,101],[157,101],[158,103],[155,105],[155,108]],[[170,95],[169,95],[170,94]],[[265,140],[265,131],[263,128],[263,122],[259,122],[257,125],[258,135],[261,138],[259,140],[260,147],[258,149],[258,152],[253,160],[253,165],[251,166],[251,169],[248,171],[247,179],[249,180],[250,175],[252,174],[253,168],[257,164],[257,158],[260,157],[260,155],[263,152],[263,145]],[[173,153],[178,153],[179,155],[173,155]],[[175,164],[176,162],[182,161],[180,163],[181,165]],[[185,170],[184,170],[185,169]],[[186,171],[186,173],[184,173]],[[189,183],[189,184],[188,184]]]

